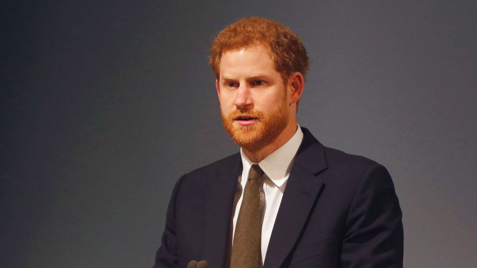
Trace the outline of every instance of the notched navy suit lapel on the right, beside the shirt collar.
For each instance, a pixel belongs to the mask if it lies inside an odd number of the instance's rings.
[[[306,129],[297,152],[270,237],[264,268],[278,268],[295,245],[319,197],[327,168],[324,147]]]

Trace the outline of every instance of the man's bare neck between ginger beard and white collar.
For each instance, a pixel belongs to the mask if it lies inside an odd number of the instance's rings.
[[[278,148],[283,146],[283,144],[286,144],[291,137],[295,134],[297,131],[298,125],[296,123],[296,120],[294,120],[293,123],[288,124],[285,129],[277,136],[277,138],[270,144],[267,144],[257,150],[249,150],[247,148],[242,147],[242,150],[247,157],[253,162],[253,163],[259,163],[262,161],[265,157],[269,156],[271,153],[275,152]]]

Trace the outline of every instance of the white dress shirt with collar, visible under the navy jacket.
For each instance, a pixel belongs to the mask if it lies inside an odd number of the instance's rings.
[[[258,163],[264,172],[264,175],[260,179],[260,182],[263,184],[263,188],[260,188],[260,206],[264,212],[261,237],[262,263],[265,261],[271,231],[275,224],[275,218],[277,217],[278,209],[280,207],[281,197],[285,191],[291,166],[293,165],[293,160],[295,159],[295,155],[298,151],[298,147],[300,147],[302,139],[303,132],[301,132],[300,126],[298,125],[297,131],[288,142]],[[242,149],[240,149],[240,155],[242,156],[243,170],[242,175],[239,176],[237,191],[235,193],[235,202],[237,205],[235,207],[233,218],[233,234],[235,234],[235,226],[237,225],[240,205],[242,204],[242,189],[245,188],[245,184],[247,183],[251,165],[255,164],[244,154]]]

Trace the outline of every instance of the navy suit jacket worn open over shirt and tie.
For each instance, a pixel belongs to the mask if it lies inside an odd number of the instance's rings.
[[[318,142],[306,128],[264,268],[402,268],[402,213],[383,165]],[[179,178],[154,268],[226,267],[240,154]]]

